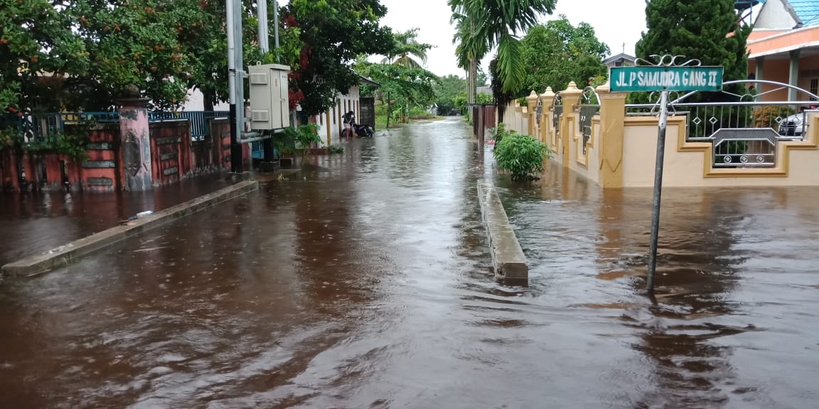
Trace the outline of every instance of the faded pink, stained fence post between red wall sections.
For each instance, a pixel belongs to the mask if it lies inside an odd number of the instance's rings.
[[[151,138],[148,122],[147,98],[131,92],[120,99],[120,149],[126,191],[148,191],[153,186]]]

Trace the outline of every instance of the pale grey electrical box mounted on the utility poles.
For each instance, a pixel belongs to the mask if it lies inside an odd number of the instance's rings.
[[[251,85],[251,129],[270,130],[290,126],[287,97],[287,65],[265,64],[247,67]]]

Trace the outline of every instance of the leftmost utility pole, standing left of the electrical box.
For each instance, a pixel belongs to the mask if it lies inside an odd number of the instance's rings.
[[[244,70],[242,57],[242,0],[225,0],[228,20],[228,88],[230,102],[230,172],[242,173],[244,132]]]

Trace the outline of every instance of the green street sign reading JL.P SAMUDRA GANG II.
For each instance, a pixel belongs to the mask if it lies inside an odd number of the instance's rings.
[[[612,67],[612,92],[722,91],[722,67]]]

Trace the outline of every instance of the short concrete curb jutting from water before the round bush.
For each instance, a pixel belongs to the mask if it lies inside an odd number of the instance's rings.
[[[489,236],[489,247],[492,264],[495,266],[495,278],[518,285],[527,285],[529,265],[523,249],[514,235],[504,205],[490,183],[477,182],[477,198],[481,203],[481,214],[486,233]]]

